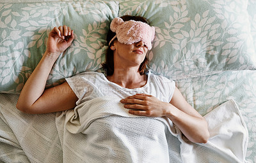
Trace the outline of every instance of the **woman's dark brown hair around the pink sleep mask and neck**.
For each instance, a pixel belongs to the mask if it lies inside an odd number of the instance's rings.
[[[144,22],[144,23],[147,23],[148,25],[150,25],[147,18],[140,17],[140,16],[125,15],[120,18],[122,18],[124,21],[134,20],[134,21]],[[108,44],[115,35],[116,35],[115,32],[112,32],[111,30],[109,30],[108,36],[107,36]],[[111,45],[112,45],[112,43],[111,43]],[[108,76],[110,76],[114,73],[114,51],[111,50],[111,48],[110,48],[111,45],[108,46],[108,50],[106,52],[106,60],[104,63],[102,63],[102,67],[106,71]],[[145,59],[143,60],[143,62],[140,64],[140,68],[139,68],[140,74],[145,73],[145,71],[147,69],[147,64],[148,64],[148,59],[146,56]]]

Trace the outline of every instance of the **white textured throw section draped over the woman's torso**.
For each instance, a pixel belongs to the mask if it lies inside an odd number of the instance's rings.
[[[116,97],[97,97],[81,108],[58,115],[56,126],[60,131],[63,160],[170,162],[172,158],[180,162],[179,140],[170,134],[175,132],[175,127],[170,127],[172,122],[131,115],[119,101]]]

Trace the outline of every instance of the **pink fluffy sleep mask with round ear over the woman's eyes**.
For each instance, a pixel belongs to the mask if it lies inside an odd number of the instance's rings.
[[[111,42],[117,38],[120,43],[131,45],[143,41],[148,50],[152,48],[151,42],[155,38],[155,27],[151,27],[147,23],[129,20],[125,21],[122,18],[114,18],[110,24],[110,29],[116,32],[116,36],[111,39]]]

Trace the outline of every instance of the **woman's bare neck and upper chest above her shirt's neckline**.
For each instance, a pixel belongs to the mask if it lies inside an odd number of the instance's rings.
[[[147,76],[141,75],[138,69],[115,69],[113,75],[107,76],[107,78],[127,89],[140,88],[147,83]]]

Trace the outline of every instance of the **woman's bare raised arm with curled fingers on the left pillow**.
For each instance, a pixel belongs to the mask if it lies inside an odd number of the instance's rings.
[[[65,82],[57,87],[45,90],[45,84],[54,62],[74,40],[74,31],[66,25],[54,27],[47,39],[46,51],[29,76],[16,107],[25,113],[50,113],[68,110],[76,106],[76,94]]]

